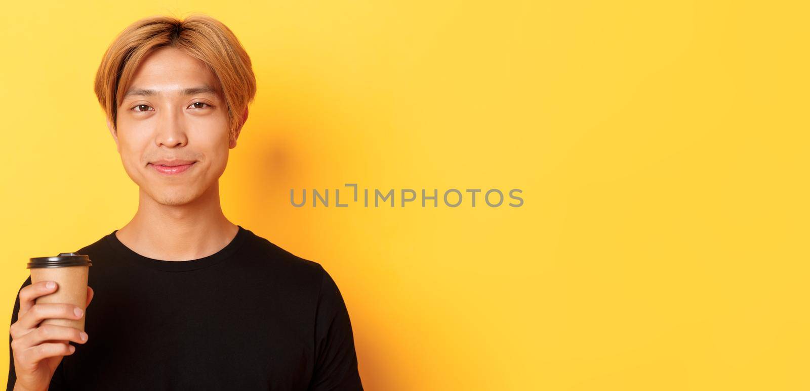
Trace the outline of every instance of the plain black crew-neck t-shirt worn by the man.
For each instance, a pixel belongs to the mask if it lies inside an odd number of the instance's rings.
[[[51,390],[363,389],[346,305],[319,263],[241,226],[190,261],[144,257],[115,232],[76,251],[92,260],[89,338],[71,342]],[[12,324],[18,312],[19,293]]]

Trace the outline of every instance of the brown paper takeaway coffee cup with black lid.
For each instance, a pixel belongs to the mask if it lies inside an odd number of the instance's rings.
[[[40,281],[56,281],[56,292],[36,298],[40,303],[66,303],[86,309],[87,274],[92,262],[87,255],[62,253],[55,257],[32,258],[28,263],[31,269],[31,284]],[[74,327],[84,331],[84,313],[81,319],[45,319],[42,324]]]

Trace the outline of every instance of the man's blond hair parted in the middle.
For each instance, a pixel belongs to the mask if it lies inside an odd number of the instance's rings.
[[[219,79],[233,137],[241,127],[242,113],[256,95],[256,78],[237,36],[219,20],[202,14],[185,19],[163,15],[140,19],[109,45],[96,72],[94,90],[113,128],[117,131],[117,108],[135,69],[149,53],[166,46],[203,61]]]

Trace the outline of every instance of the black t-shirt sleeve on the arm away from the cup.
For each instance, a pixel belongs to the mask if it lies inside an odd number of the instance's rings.
[[[346,304],[335,280],[322,269],[315,315],[315,368],[309,389],[362,391]]]

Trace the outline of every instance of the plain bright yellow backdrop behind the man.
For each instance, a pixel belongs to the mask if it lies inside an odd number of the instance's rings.
[[[810,389],[806,2],[262,3],[4,4],[3,324],[137,207],[104,49],[200,11],[258,78],[225,213],[335,278],[366,389]],[[525,204],[289,203],[343,183]]]

